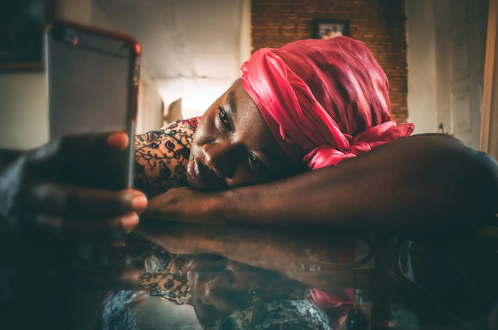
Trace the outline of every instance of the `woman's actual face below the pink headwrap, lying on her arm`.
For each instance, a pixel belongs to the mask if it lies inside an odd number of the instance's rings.
[[[221,190],[295,173],[258,106],[237,80],[203,115],[194,135],[187,181]]]

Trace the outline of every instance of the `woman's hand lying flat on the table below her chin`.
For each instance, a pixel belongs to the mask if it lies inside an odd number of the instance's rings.
[[[226,220],[216,211],[216,203],[216,193],[203,193],[186,187],[172,188],[152,198],[140,218],[221,225]]]

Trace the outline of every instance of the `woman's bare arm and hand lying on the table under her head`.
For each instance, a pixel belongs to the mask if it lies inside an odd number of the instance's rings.
[[[452,231],[498,211],[497,163],[452,137],[419,135],[282,181],[217,193],[174,189],[146,216],[192,223]]]

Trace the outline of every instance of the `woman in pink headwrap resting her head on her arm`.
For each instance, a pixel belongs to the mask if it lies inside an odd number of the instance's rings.
[[[390,121],[386,76],[363,43],[338,37],[258,50],[207,110],[191,147],[189,185],[221,191],[170,189],[143,218],[447,232],[494,217],[496,163],[443,135],[387,143],[412,130]],[[65,139],[23,156],[1,176],[3,226],[22,230],[18,219],[27,218],[86,236],[133,228],[147,206],[139,191],[56,183],[68,163],[98,170],[90,157],[127,143],[119,133]],[[317,170],[265,183],[306,166]]]

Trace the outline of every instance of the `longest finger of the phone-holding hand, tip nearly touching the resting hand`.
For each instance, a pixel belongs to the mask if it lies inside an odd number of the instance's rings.
[[[40,213],[63,218],[111,218],[127,213],[141,213],[147,198],[140,191],[106,191],[99,189],[40,183],[28,196]]]

